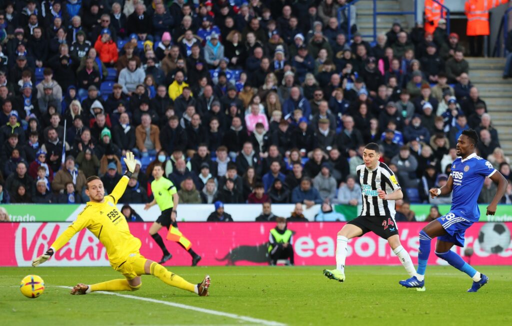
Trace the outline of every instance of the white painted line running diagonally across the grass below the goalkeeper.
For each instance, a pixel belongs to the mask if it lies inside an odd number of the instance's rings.
[[[65,286],[57,286],[57,288],[73,289],[72,287],[65,287]],[[176,302],[171,302],[171,301],[163,301],[163,300],[139,297],[139,296],[129,295],[129,294],[119,294],[119,293],[115,293],[115,292],[97,291],[95,293],[115,295],[115,296],[120,296],[120,297],[123,297],[123,298],[141,300],[141,301],[146,301],[146,302],[161,303],[162,305],[171,306],[171,307],[175,307],[175,308],[192,310],[192,311],[202,312],[202,313],[210,314],[210,315],[228,317],[228,318],[248,321],[248,322],[252,322],[252,323],[267,325],[267,326],[286,326],[286,324],[282,323],[282,322],[265,320],[265,319],[259,319],[259,318],[253,318],[253,317],[247,317],[247,316],[241,316],[241,315],[237,315],[237,314],[231,314],[231,313],[228,313],[228,312],[222,312],[222,311],[217,311],[217,310],[199,308],[199,307],[194,307],[194,306],[188,306],[188,305],[183,305],[183,303],[176,303]]]

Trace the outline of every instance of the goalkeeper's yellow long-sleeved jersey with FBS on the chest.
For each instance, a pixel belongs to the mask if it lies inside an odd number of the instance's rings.
[[[141,242],[130,233],[130,228],[116,204],[121,198],[130,179],[123,176],[111,194],[104,197],[103,203],[88,202],[71,224],[52,244],[59,250],[81,229],[91,231],[106,248],[113,267],[124,263],[131,253],[139,253]]]

